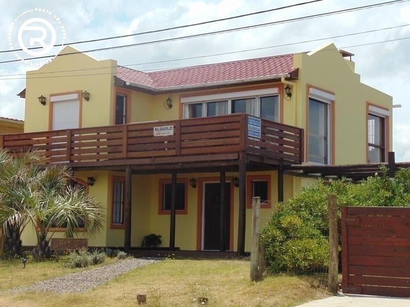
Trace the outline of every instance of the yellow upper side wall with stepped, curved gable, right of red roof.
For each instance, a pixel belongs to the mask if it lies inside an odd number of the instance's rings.
[[[393,148],[393,98],[360,83],[360,75],[352,71],[352,66],[353,64],[348,64],[342,58],[333,44],[325,45],[308,54],[294,55],[294,67],[299,67],[299,77],[295,81],[298,86],[296,126],[306,128],[306,107],[309,98],[307,86],[335,94],[332,123],[335,138],[331,140],[335,148],[335,160],[332,164],[366,163],[367,102],[389,109],[391,120],[387,151]]]

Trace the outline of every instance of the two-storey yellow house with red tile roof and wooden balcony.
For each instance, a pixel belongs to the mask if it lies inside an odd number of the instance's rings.
[[[252,196],[267,216],[312,182],[283,169],[383,162],[392,149],[392,97],[362,84],[352,54],[333,44],[152,73],[76,51],[27,73],[19,144],[95,179],[107,224],[90,246],[138,247],[156,233],[165,247],[241,254]]]

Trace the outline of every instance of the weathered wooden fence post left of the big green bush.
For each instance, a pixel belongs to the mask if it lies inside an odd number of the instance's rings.
[[[252,250],[251,250],[251,280],[258,281],[262,279],[263,268],[260,261],[260,197],[252,199]]]

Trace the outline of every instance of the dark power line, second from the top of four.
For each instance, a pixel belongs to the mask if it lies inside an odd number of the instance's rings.
[[[86,50],[86,51],[78,51],[78,52],[70,52],[70,53],[66,53],[66,54],[58,54],[58,55],[55,55],[55,56],[65,56],[65,55],[72,55],[72,54],[85,53],[85,52],[106,51],[106,50],[113,50],[113,49],[122,49],[122,48],[143,46],[143,45],[153,45],[153,44],[161,43],[161,42],[168,42],[168,41],[182,40],[182,39],[190,39],[190,38],[194,38],[194,37],[209,36],[209,35],[228,33],[228,32],[235,32],[235,31],[242,31],[242,30],[247,30],[247,29],[252,29],[252,28],[267,27],[267,26],[272,26],[272,25],[277,25],[277,24],[290,23],[290,22],[294,22],[294,21],[300,21],[300,20],[306,20],[306,19],[312,19],[312,18],[319,18],[319,17],[323,17],[323,16],[330,16],[330,15],[341,14],[341,13],[346,13],[346,12],[359,11],[359,10],[384,6],[384,5],[392,5],[392,4],[396,4],[396,3],[400,3],[400,2],[406,2],[406,1],[409,1],[409,0],[396,0],[396,1],[373,4],[373,5],[361,6],[361,7],[356,7],[356,8],[344,9],[344,10],[339,10],[339,11],[332,11],[332,12],[327,12],[327,13],[309,15],[309,16],[304,16],[304,17],[297,17],[297,18],[285,19],[285,20],[280,20],[280,21],[273,21],[272,23],[264,23],[264,24],[259,24],[259,25],[239,27],[239,28],[233,28],[233,29],[228,29],[228,30],[220,30],[220,31],[201,33],[201,34],[193,34],[193,35],[180,36],[180,37],[174,37],[174,38],[168,38],[168,39],[160,39],[160,40],[154,40],[154,41],[133,43],[133,44],[129,44],[129,45],[106,47],[106,48],[97,48],[97,49],[91,49],[91,50]],[[26,60],[42,59],[42,58],[50,58],[50,57],[51,56],[33,57],[33,58],[28,58]],[[20,61],[20,60],[19,59],[8,60],[8,61],[2,61],[0,63],[3,64],[3,63],[10,63],[10,62],[17,62],[17,61]]]

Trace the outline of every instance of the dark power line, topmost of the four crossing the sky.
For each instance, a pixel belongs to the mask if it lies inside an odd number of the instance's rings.
[[[288,8],[297,7],[297,6],[306,5],[306,4],[311,4],[311,3],[320,2],[320,1],[323,1],[323,0],[312,0],[312,1],[309,1],[309,2],[302,2],[302,3],[293,4],[293,5],[288,5],[288,6],[283,6],[283,7],[279,7],[279,8],[263,10],[263,11],[248,13],[248,14],[242,14],[242,15],[237,15],[237,16],[232,16],[232,17],[213,19],[213,20],[209,20],[209,21],[203,21],[202,23],[196,23],[196,24],[190,24],[190,25],[183,25],[183,26],[177,26],[177,27],[171,27],[171,28],[165,28],[165,29],[159,29],[159,30],[151,30],[151,31],[146,31],[146,32],[138,32],[138,33],[127,34],[127,35],[110,36],[110,37],[83,40],[83,41],[74,41],[74,42],[66,43],[66,45],[76,45],[78,43],[87,43],[87,42],[103,41],[103,40],[116,39],[116,38],[125,38],[125,37],[130,37],[130,36],[152,34],[152,33],[171,31],[171,30],[183,29],[183,28],[194,27],[194,26],[202,26],[202,25],[207,25],[207,24],[211,24],[211,23],[217,23],[219,21],[225,21],[225,20],[231,20],[231,19],[236,19],[236,18],[241,18],[241,17],[247,17],[247,16],[252,16],[252,15],[262,14],[262,13],[268,13],[268,12],[288,9]],[[59,44],[59,45],[54,45],[53,47],[60,47],[60,46],[61,45]],[[32,50],[32,49],[42,49],[42,48],[43,47],[32,47],[32,48],[28,48],[28,49]],[[15,52],[15,51],[23,51],[23,49],[3,50],[3,51],[0,51],[0,53]]]

